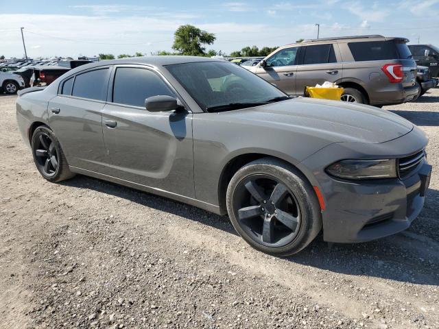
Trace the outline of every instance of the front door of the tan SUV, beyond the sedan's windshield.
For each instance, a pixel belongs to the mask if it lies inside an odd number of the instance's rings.
[[[276,85],[288,95],[296,95],[296,70],[299,47],[280,49],[266,61],[267,66],[258,67],[254,73]]]

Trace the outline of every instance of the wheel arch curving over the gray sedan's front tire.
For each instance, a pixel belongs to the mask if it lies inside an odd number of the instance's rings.
[[[227,213],[226,193],[228,184],[230,183],[233,175],[235,175],[235,173],[246,164],[254,160],[259,160],[261,158],[273,158],[276,160],[280,160],[281,162],[285,162],[285,164],[294,167],[300,173],[302,173],[304,178],[309,182],[309,184],[311,184],[311,186],[316,185],[316,180],[313,178],[311,173],[307,172],[307,170],[300,165],[299,161],[288,158],[287,156],[284,156],[282,154],[272,154],[272,152],[270,151],[245,152],[241,154],[235,154],[233,157],[226,161],[226,164],[222,169],[221,175],[219,175],[219,181],[217,186],[218,202],[219,210],[223,215]]]

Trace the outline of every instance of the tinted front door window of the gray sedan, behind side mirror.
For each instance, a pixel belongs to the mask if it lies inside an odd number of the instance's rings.
[[[156,73],[133,67],[116,70],[112,101],[132,106],[145,106],[145,99],[151,96],[175,96]]]

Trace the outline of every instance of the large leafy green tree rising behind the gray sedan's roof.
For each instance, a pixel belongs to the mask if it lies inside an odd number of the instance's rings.
[[[193,25],[181,25],[174,33],[172,49],[180,55],[205,56],[204,45],[211,45],[215,41],[215,34],[202,31]]]

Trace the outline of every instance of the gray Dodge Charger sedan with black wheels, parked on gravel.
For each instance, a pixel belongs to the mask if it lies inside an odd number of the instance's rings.
[[[250,245],[299,252],[405,230],[423,208],[427,137],[396,114],[289,98],[235,64],[159,56],[80,66],[16,101],[50,182],[93,176],[228,213]]]

